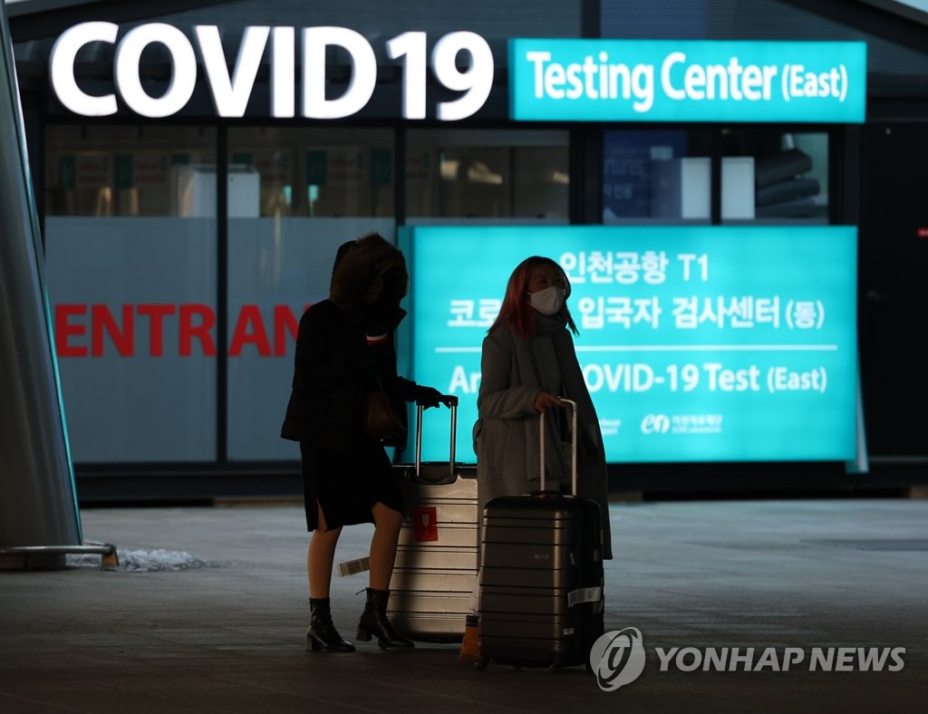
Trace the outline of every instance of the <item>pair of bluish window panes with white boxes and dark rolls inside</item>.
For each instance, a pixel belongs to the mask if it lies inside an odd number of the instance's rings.
[[[708,223],[712,134],[723,223],[828,223],[828,134],[772,129],[603,134],[603,223]]]

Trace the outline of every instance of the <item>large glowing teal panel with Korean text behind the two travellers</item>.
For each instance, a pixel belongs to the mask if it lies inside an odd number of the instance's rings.
[[[570,277],[610,462],[856,456],[856,227],[430,226],[400,241],[404,370],[458,395],[458,461],[476,458],[483,337],[532,254]],[[446,460],[447,426],[426,426],[423,458]]]

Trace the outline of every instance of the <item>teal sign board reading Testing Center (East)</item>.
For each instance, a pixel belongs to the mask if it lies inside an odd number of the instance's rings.
[[[859,42],[509,40],[515,121],[861,123]]]

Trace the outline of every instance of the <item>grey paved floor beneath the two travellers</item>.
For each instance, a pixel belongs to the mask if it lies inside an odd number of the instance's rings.
[[[606,630],[637,628],[646,663],[606,692],[583,668],[481,671],[455,644],[305,652],[298,504],[85,509],[85,540],[208,567],[0,572],[0,712],[926,710],[928,500],[615,503],[611,517]],[[337,560],[369,535],[345,529]],[[333,582],[349,638],[366,584]],[[734,670],[702,669],[725,647]]]

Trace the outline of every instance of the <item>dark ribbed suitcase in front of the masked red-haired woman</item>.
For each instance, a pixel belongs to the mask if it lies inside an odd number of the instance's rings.
[[[564,400],[568,402],[567,400]],[[576,496],[576,403],[572,415],[571,495],[503,496],[483,509],[480,656],[515,667],[589,665],[603,633],[602,520],[599,504]]]

